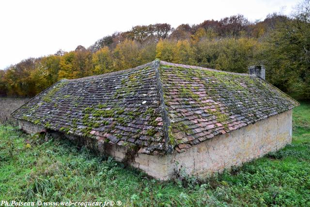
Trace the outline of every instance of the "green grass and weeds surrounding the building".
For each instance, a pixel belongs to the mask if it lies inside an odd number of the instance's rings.
[[[122,206],[310,206],[310,103],[294,109],[293,142],[207,181],[158,182],[65,141],[0,125],[0,201],[122,201]]]

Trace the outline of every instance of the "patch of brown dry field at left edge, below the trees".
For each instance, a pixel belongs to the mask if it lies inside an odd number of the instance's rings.
[[[10,119],[10,114],[26,103],[29,98],[0,97],[0,123]]]

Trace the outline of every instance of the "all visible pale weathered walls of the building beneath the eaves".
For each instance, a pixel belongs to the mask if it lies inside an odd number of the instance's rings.
[[[19,121],[19,126],[28,133],[39,132],[44,128],[25,121]],[[117,161],[127,159],[126,149],[123,146],[55,133],[78,145],[87,145],[99,154],[112,156]],[[291,141],[292,110],[216,136],[183,153],[175,151],[170,155],[157,156],[136,154],[129,164],[161,180],[173,177],[176,162],[185,168],[187,174],[206,177],[213,173],[221,173],[232,166],[240,166],[244,162],[262,157],[271,151],[279,150]]]

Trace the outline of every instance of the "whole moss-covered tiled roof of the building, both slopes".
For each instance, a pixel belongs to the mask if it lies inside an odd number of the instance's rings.
[[[155,60],[129,70],[61,80],[12,115],[140,153],[165,154],[183,152],[297,105],[255,76]]]

